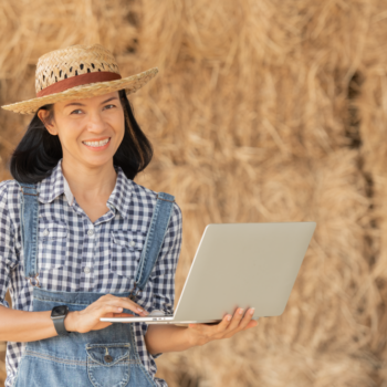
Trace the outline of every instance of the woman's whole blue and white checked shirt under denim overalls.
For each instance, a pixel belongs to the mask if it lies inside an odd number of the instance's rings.
[[[156,205],[156,192],[129,180],[116,168],[109,210],[94,223],[77,205],[62,174],[61,161],[38,185],[38,272],[42,289],[57,292],[119,293],[133,289],[136,269]],[[172,313],[175,271],[181,248],[181,211],[175,203],[168,230],[149,281],[137,299],[148,312]],[[32,311],[32,285],[24,278],[20,233],[20,189],[14,180],[0,182],[0,304],[10,290],[13,308]],[[146,324],[135,324],[140,359],[151,376],[156,364],[145,345]],[[10,387],[23,353],[22,343],[8,343]],[[157,386],[167,384],[155,378]]]

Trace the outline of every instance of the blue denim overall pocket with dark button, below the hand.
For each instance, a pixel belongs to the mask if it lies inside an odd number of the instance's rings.
[[[130,344],[87,344],[87,374],[94,387],[125,387],[129,383]]]

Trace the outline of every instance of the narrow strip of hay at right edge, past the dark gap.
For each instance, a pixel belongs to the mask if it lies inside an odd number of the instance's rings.
[[[380,2],[381,3],[381,2]],[[378,3],[376,3],[379,6]],[[379,290],[378,322],[373,321],[372,348],[379,354],[380,386],[387,386],[387,33],[386,11],[368,15],[368,34],[359,65],[359,93],[353,106],[362,125],[364,170],[373,197],[370,268],[372,280]]]

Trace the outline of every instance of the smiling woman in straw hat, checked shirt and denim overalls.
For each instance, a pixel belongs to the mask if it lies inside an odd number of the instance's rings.
[[[34,113],[11,158],[15,180],[0,184],[7,387],[167,386],[155,378],[157,355],[257,325],[253,310],[188,328],[100,321],[172,313],[181,212],[171,196],[133,181],[151,146],[126,96],[156,73],[122,79],[107,50],[73,45],[39,60],[36,98],[3,106]],[[151,255],[148,231],[163,211]]]

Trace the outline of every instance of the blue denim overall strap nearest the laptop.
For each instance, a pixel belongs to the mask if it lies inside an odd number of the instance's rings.
[[[148,233],[146,236],[145,245],[136,273],[135,287],[130,292],[130,297],[135,297],[138,291],[144,290],[150,276],[151,270],[156,264],[165,234],[168,229],[169,219],[174,209],[174,196],[165,192],[157,194],[155,210],[150,220]]]

